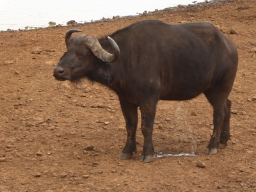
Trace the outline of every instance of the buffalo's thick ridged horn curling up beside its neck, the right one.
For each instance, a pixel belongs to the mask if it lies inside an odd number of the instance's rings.
[[[113,54],[105,51],[99,43],[99,40],[93,36],[85,36],[86,45],[91,49],[93,54],[102,61],[111,63],[118,59],[120,56],[120,49],[115,40],[108,36],[109,43],[113,49]]]

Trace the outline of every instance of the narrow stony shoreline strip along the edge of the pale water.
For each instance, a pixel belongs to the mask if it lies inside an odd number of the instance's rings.
[[[220,5],[220,4],[227,4],[227,3],[232,3],[234,0],[205,0],[205,2],[202,3],[196,3],[195,4],[188,4],[188,5],[178,5],[175,7],[168,7],[164,8],[163,10],[154,10],[153,12],[143,12],[143,13],[138,13],[138,15],[126,15],[126,16],[113,16],[112,19],[110,18],[102,18],[99,20],[92,20],[91,22],[76,22],[76,20],[69,20],[67,22],[67,25],[61,25],[61,24],[54,24],[51,25],[50,23],[53,21],[49,21],[49,26],[45,27],[25,27],[25,29],[6,29],[6,30],[1,30],[0,33],[4,32],[14,32],[14,31],[31,31],[31,30],[40,30],[40,29],[45,29],[45,28],[65,28],[65,27],[70,27],[70,26],[82,26],[86,24],[91,24],[91,23],[99,23],[99,22],[109,22],[111,20],[120,20],[120,19],[129,19],[129,18],[136,18],[136,17],[143,17],[145,15],[160,15],[164,13],[179,13],[179,12],[193,12],[195,10],[198,10],[200,8],[205,8],[209,6],[215,6],[215,5]]]

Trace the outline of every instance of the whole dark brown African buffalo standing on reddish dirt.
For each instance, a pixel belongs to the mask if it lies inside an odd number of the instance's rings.
[[[67,31],[67,52],[54,68],[60,81],[88,77],[119,97],[127,141],[120,159],[136,151],[138,107],[143,151],[139,161],[154,156],[152,132],[157,101],[188,100],[204,93],[213,107],[214,129],[205,154],[216,154],[230,138],[228,95],[237,71],[237,48],[207,22],[166,24],[143,20],[104,38]]]

